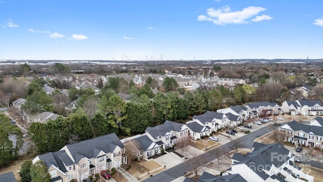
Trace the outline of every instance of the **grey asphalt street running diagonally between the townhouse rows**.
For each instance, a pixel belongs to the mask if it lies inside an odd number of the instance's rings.
[[[250,148],[252,147],[253,145],[253,141],[257,138],[259,138],[260,136],[268,133],[268,132],[271,132],[275,129],[275,127],[273,126],[273,124],[271,125],[267,125],[267,126],[264,126],[256,131],[253,131],[249,134],[246,134],[244,136],[242,136],[240,139],[242,141],[245,141],[244,142],[244,148]],[[231,146],[231,142],[227,143],[227,144],[224,144],[224,145],[221,145],[219,146],[218,148],[220,148],[221,150],[224,150],[224,151],[232,151],[233,149],[230,147]],[[203,158],[206,159],[207,162],[210,162],[214,159],[216,159],[216,156],[213,154],[213,151],[214,149],[212,150],[209,150],[207,152],[205,152],[204,154],[201,154],[201,156]],[[190,171],[190,169],[188,168],[188,162],[185,161],[177,166],[174,166],[170,169],[167,169],[165,171],[162,171],[158,174],[155,174],[143,181],[146,181],[146,182],[154,182],[154,181],[160,181],[160,182],[169,182],[169,181],[172,181],[182,175],[185,175],[185,172],[186,171]]]

